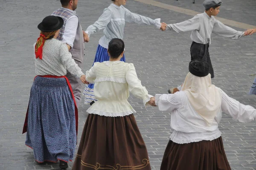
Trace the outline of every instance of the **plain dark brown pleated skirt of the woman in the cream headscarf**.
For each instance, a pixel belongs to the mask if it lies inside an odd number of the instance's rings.
[[[177,144],[169,141],[160,170],[231,170],[222,138]]]

